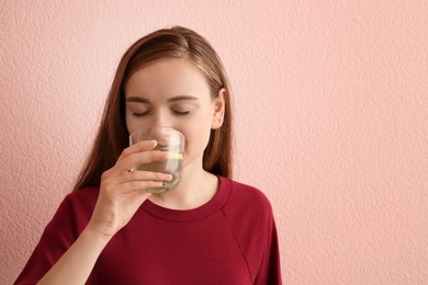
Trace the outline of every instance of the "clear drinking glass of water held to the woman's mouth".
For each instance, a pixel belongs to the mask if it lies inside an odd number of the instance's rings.
[[[177,129],[170,127],[143,127],[129,135],[129,145],[132,146],[142,140],[153,139],[157,141],[154,150],[168,151],[168,159],[137,164],[131,171],[143,170],[171,174],[172,180],[165,182],[162,187],[146,190],[149,193],[165,193],[177,186],[180,182],[184,158],[184,136]]]

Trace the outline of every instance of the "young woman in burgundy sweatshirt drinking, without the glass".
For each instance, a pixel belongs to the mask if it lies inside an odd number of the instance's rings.
[[[281,284],[270,203],[230,180],[230,90],[210,43],[176,26],[124,54],[92,151],[15,284]],[[167,158],[144,126],[185,137],[180,183],[128,171]]]

